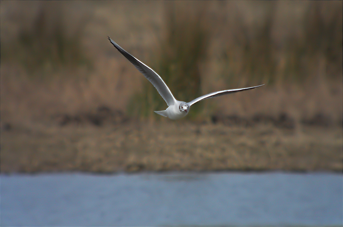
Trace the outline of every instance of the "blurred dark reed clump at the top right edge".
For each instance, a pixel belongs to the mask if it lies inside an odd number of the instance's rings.
[[[342,2],[337,3],[327,8],[323,2],[314,2],[304,15],[304,34],[294,49],[309,61],[305,62],[309,72],[308,67],[316,66],[318,58],[323,58],[328,76],[342,73]]]

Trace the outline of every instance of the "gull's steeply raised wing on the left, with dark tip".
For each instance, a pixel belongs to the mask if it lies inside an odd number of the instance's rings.
[[[122,49],[118,44],[111,40],[110,37],[108,37],[108,40],[122,55],[124,55],[124,57],[126,57],[141,73],[143,73],[144,77],[148,79],[148,81],[150,81],[150,83],[157,89],[168,106],[175,103],[176,99],[174,98],[173,94],[170,92],[169,88],[164,83],[162,78],[159,76],[159,74],[157,74],[143,62],[132,56],[126,50]]]

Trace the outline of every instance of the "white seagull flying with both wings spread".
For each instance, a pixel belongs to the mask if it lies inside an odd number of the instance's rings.
[[[173,94],[170,92],[168,86],[159,74],[157,74],[154,70],[152,70],[150,67],[148,67],[146,64],[132,56],[130,53],[128,53],[126,50],[122,49],[118,44],[116,44],[109,36],[108,40],[113,44],[113,46],[124,56],[126,57],[141,73],[143,73],[144,77],[150,81],[150,83],[157,89],[157,91],[160,93],[162,98],[166,101],[168,108],[166,110],[162,111],[154,111],[155,113],[158,113],[159,115],[162,115],[163,117],[167,117],[172,120],[177,120],[180,118],[185,117],[188,112],[190,111],[191,106],[199,102],[201,100],[207,99],[207,98],[214,98],[221,95],[231,94],[239,91],[245,91],[249,89],[254,89],[261,87],[263,85],[250,87],[250,88],[239,88],[239,89],[231,89],[231,90],[223,90],[223,91],[216,91],[209,93],[207,95],[200,96],[190,102],[183,102],[178,101],[174,98]]]

